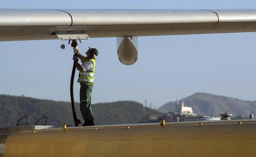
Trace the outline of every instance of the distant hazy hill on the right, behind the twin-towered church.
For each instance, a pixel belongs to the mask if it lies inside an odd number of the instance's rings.
[[[183,100],[185,106],[192,107],[193,112],[199,115],[219,115],[225,111],[232,113],[234,117],[249,117],[250,113],[256,114],[256,101],[243,101],[208,93],[195,93]],[[175,103],[168,102],[157,110],[162,113],[174,112]]]

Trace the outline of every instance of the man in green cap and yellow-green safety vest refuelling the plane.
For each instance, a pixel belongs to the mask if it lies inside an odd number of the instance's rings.
[[[94,71],[95,71],[95,60],[98,55],[98,50],[90,48],[85,53],[87,57],[78,55],[73,57],[76,69],[79,70],[78,82],[80,82],[80,111],[82,117],[85,119],[83,126],[93,126],[94,118],[91,112],[91,91],[94,84]],[[82,64],[78,63],[78,58]]]

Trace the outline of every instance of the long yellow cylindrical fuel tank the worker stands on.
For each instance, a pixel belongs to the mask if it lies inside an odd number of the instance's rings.
[[[255,157],[256,121],[66,127],[2,133],[3,157]]]

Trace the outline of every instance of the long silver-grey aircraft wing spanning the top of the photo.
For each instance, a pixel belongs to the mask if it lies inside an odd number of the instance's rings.
[[[256,9],[0,9],[0,41],[58,39],[55,33],[66,31],[89,38],[251,32]]]

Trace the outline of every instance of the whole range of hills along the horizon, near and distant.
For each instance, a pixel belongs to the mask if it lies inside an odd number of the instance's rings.
[[[256,114],[256,101],[243,101],[208,93],[195,93],[186,97],[184,104],[191,106],[194,113],[199,115],[219,115],[227,111],[234,115],[232,119],[243,119],[249,117],[250,113]],[[163,105],[158,111],[133,101],[106,102],[93,104],[92,111],[96,125],[160,122],[162,117],[166,122],[173,122],[177,116],[182,121],[182,115],[171,113],[175,111],[175,102]],[[170,113],[164,114],[167,112]],[[76,113],[83,123],[79,103],[76,103]],[[47,125],[74,123],[70,102],[0,95],[0,127],[15,126],[18,119],[25,115],[30,115],[30,124],[45,115],[49,116]]]

